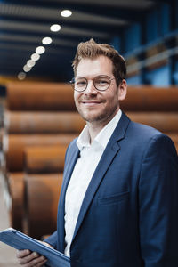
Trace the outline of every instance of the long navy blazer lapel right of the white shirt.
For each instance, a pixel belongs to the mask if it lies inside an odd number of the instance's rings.
[[[109,140],[109,143],[108,143],[106,149],[104,150],[104,152],[102,154],[101,160],[100,160],[99,165],[97,166],[97,168],[93,174],[93,178],[92,178],[92,180],[88,186],[88,189],[86,190],[85,198],[84,198],[83,204],[81,206],[80,213],[78,215],[77,225],[76,225],[76,229],[74,231],[73,240],[77,236],[77,231],[79,230],[81,223],[84,220],[87,209],[89,208],[90,203],[93,200],[93,197],[94,197],[96,190],[100,186],[100,183],[101,183],[101,180],[102,180],[104,174],[107,172],[107,170],[108,170],[110,164],[112,163],[113,158],[117,154],[118,150],[120,150],[118,141],[125,137],[125,131],[126,131],[126,128],[129,124],[129,122],[130,122],[130,119],[128,117],[126,117],[125,114],[123,113],[122,117],[120,118],[120,121],[117,124],[117,127],[116,127],[114,133],[112,134],[112,136]]]

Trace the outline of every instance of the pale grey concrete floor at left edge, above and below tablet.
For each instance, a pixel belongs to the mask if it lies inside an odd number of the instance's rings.
[[[4,203],[4,178],[0,174],[0,231],[11,227]],[[0,242],[0,267],[20,267],[15,258],[16,250]]]

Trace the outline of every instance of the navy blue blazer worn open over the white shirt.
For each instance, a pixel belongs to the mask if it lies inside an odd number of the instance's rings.
[[[57,231],[45,240],[61,252],[65,193],[78,156],[74,140]],[[70,261],[71,267],[178,266],[178,158],[169,137],[122,114],[85,193]]]

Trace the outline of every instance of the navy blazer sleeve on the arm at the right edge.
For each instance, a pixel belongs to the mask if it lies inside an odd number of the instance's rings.
[[[178,266],[178,158],[164,134],[151,138],[139,182],[140,242],[145,267]]]

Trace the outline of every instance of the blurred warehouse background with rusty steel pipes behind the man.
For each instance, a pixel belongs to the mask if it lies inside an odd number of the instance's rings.
[[[127,64],[121,108],[178,150],[178,0],[0,0],[0,230],[56,228],[65,150],[85,125],[69,80],[77,44]],[[16,266],[0,242],[0,266]]]

